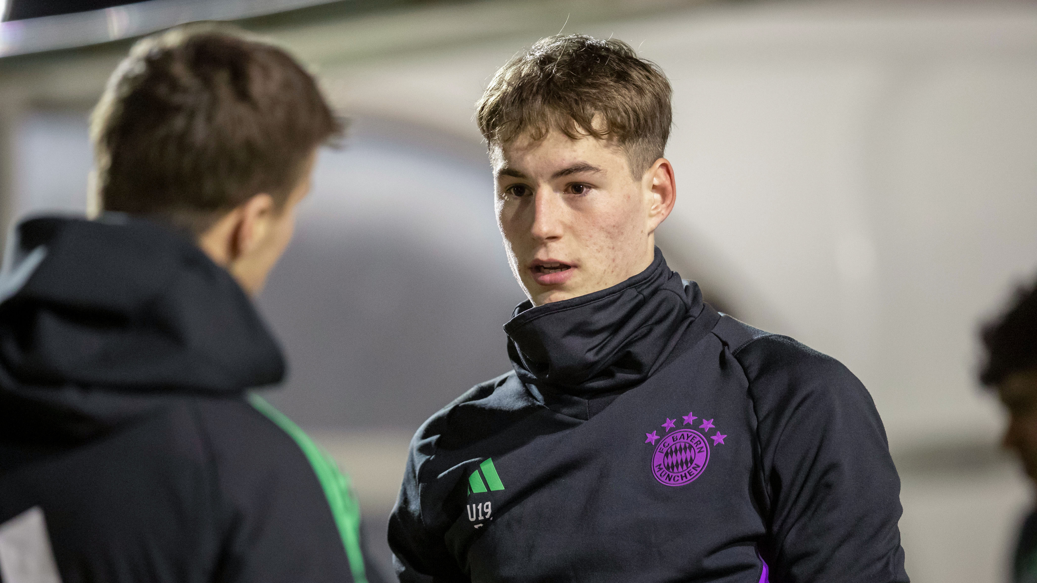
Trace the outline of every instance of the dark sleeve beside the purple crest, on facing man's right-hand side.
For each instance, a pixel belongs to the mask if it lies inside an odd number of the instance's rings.
[[[783,336],[737,358],[758,420],[772,579],[906,583],[900,478],[868,391],[838,361]]]

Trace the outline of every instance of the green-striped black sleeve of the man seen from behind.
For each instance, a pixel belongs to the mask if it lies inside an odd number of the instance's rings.
[[[288,433],[237,399],[203,412],[202,425],[213,451],[213,495],[220,508],[220,560],[213,581],[366,579],[366,568],[351,564],[316,468]],[[362,547],[359,520],[358,513],[355,543]],[[369,562],[364,560],[364,566]]]

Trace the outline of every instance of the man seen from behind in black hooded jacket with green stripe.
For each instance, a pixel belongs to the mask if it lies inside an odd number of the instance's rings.
[[[340,133],[280,49],[138,43],[94,112],[95,221],[19,227],[0,303],[4,583],[368,580],[348,480],[251,387],[249,300]]]

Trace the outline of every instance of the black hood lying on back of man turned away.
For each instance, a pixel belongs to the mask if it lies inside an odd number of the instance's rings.
[[[229,396],[284,376],[252,302],[178,232],[120,214],[45,217],[22,223],[12,245],[0,280],[8,415],[110,423],[173,395]]]

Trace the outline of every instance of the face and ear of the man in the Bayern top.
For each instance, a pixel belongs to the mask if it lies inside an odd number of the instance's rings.
[[[622,149],[558,131],[494,146],[491,159],[497,223],[534,305],[611,287],[651,265],[655,227],[673,206],[669,162],[635,179]]]

